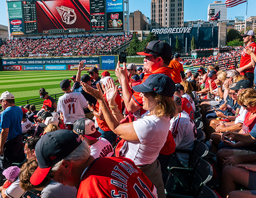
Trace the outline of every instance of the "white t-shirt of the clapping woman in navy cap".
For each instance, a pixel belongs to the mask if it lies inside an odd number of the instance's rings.
[[[159,156],[169,132],[170,118],[168,116],[149,116],[146,112],[142,118],[133,122],[138,141],[127,142],[124,157],[132,159],[138,165],[153,163]]]

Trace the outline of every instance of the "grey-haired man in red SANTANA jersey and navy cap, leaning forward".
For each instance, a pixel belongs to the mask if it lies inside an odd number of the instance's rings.
[[[53,155],[56,156],[53,161],[47,160]],[[112,174],[115,171],[120,176],[124,174],[127,186],[138,186],[143,196],[150,197],[150,193],[156,196],[154,185],[130,159],[101,157],[95,160],[90,156],[88,144],[72,131],[46,133],[38,142],[36,156],[41,157],[38,158],[39,167],[29,180],[33,186],[41,184],[50,172],[54,181],[76,187],[76,197],[111,197],[111,190],[115,194],[121,190],[111,182],[117,179]],[[126,168],[131,171],[127,172]],[[138,197],[135,188],[123,190],[129,197]]]

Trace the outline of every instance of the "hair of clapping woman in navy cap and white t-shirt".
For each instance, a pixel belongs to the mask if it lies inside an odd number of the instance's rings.
[[[154,114],[156,117],[169,116],[174,117],[176,107],[175,102],[172,97],[167,97],[164,95],[157,94],[155,92],[149,92],[151,97],[153,97],[157,103],[155,106]]]

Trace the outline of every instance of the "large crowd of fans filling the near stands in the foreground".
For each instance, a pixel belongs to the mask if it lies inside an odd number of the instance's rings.
[[[168,43],[151,41],[137,53],[145,56],[143,68],[134,63],[120,67],[118,62],[119,87],[109,72],[100,74],[96,67],[82,75],[81,61],[72,86],[69,79],[60,81],[64,95],[58,103],[44,88],[39,90],[44,99],[39,111],[34,105],[17,107],[15,95],[2,93],[0,167],[7,179],[0,187],[2,196],[166,197],[165,190],[182,194],[186,190],[175,191],[178,183],[169,168],[209,165],[208,181],[212,167],[200,158],[207,154],[220,169],[216,194],[256,197],[255,33],[248,30],[242,36],[246,47],[237,71],[215,64],[192,74],[184,71],[180,54],[172,57]],[[65,43],[76,48],[81,40]],[[125,41],[107,40],[113,46]],[[59,50],[69,52],[65,46]],[[218,61],[225,56],[219,55]],[[205,150],[192,167],[194,159],[179,150],[194,152],[199,141],[205,142]],[[178,181],[189,182],[196,172]],[[248,190],[236,191],[236,184]]]

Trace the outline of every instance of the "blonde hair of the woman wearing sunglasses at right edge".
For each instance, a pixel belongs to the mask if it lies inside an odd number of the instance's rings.
[[[237,103],[239,105],[256,106],[256,90],[253,88],[246,88],[238,95]]]

